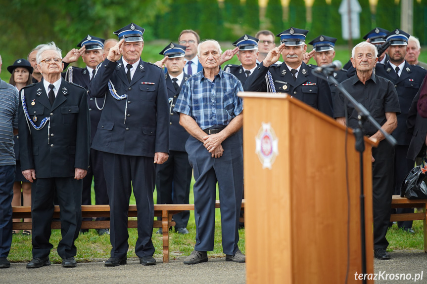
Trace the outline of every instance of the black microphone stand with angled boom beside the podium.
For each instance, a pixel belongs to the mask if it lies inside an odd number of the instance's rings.
[[[363,187],[363,152],[365,151],[365,141],[364,141],[364,135],[363,135],[363,122],[366,122],[367,120],[374,124],[374,126],[381,131],[381,133],[384,135],[385,139],[390,143],[391,146],[396,145],[396,139],[394,139],[393,136],[385,132],[381,129],[380,124],[371,116],[369,111],[356,99],[354,99],[347,90],[338,83],[338,81],[333,78],[333,76],[329,76],[334,71],[334,68],[324,68],[320,71],[314,72],[313,74],[319,78],[325,79],[323,76],[319,75],[319,73],[323,73],[327,77],[328,82],[332,82],[336,85],[336,87],[339,89],[341,93],[344,94],[344,96],[347,98],[347,100],[350,101],[351,104],[353,104],[354,108],[357,111],[357,119],[358,119],[358,126],[356,129],[353,130],[354,136],[356,138],[356,151],[359,152],[359,159],[360,159],[360,239],[361,239],[361,247],[362,247],[362,273],[363,275],[366,275],[366,238],[365,238],[365,193],[364,193],[364,187]],[[374,74],[373,74],[374,75]],[[345,107],[345,106],[344,106]],[[347,118],[345,118],[347,119]],[[363,282],[366,283],[366,278],[364,277]]]

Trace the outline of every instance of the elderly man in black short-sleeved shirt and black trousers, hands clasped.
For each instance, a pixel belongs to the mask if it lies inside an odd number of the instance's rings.
[[[392,82],[373,74],[373,68],[378,61],[377,56],[378,51],[373,44],[366,41],[357,44],[351,54],[356,74],[343,81],[341,85],[371,113],[385,132],[391,133],[397,127],[396,114],[400,113],[399,99]],[[345,117],[345,109],[348,111],[348,117]],[[357,111],[351,104],[345,102],[340,92],[334,98],[333,116],[343,125],[351,128],[358,126]],[[374,250],[378,259],[389,259],[385,235],[393,195],[394,148],[384,140],[383,134],[371,122],[364,122],[363,131],[369,139],[380,141],[378,147],[372,149]]]

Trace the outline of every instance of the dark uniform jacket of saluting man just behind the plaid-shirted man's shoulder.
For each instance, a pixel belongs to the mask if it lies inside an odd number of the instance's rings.
[[[172,100],[169,104],[170,108],[170,132],[169,132],[169,150],[186,152],[186,141],[190,134],[187,130],[180,125],[180,114],[174,111],[175,104],[177,102],[178,95],[180,94],[181,88],[184,83],[189,79],[189,76],[184,73],[184,79],[177,90],[172,83],[171,77],[166,73],[166,86],[168,88],[169,100]]]

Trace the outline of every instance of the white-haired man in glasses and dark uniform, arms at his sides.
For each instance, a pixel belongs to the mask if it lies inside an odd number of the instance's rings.
[[[74,241],[82,224],[82,180],[89,165],[90,122],[86,90],[61,78],[61,50],[51,42],[37,53],[39,83],[21,89],[19,153],[32,187],[33,260],[27,268],[50,265],[50,221],[54,192],[61,209],[57,252],[63,267],[77,265]]]

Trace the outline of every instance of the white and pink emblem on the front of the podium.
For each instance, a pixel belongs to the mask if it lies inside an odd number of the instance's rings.
[[[271,169],[279,155],[279,139],[270,122],[262,122],[262,126],[255,137],[255,143],[255,153],[258,155],[262,168]]]

